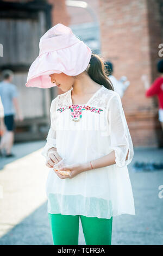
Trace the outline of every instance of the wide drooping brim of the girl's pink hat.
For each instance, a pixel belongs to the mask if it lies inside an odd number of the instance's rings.
[[[42,53],[29,68],[26,87],[51,88],[51,74],[64,73],[77,76],[86,70],[91,58],[91,50],[83,41],[57,51]]]

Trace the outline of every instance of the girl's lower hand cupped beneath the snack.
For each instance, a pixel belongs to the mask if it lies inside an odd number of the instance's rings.
[[[54,170],[54,172],[59,176],[60,179],[72,179],[74,176],[82,173],[85,170],[84,164],[71,164],[70,166],[63,166],[60,170],[71,170],[71,176],[61,175]]]

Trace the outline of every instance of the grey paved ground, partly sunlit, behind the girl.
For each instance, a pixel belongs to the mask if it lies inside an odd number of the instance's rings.
[[[0,245],[52,245],[45,183],[48,168],[40,154],[45,141],[14,145],[12,159],[0,159]],[[163,159],[163,149],[134,149],[129,176],[136,215],[113,218],[112,245],[163,245],[163,172],[134,172],[135,161]],[[163,196],[163,193],[162,193]],[[85,245],[79,225],[79,245]]]

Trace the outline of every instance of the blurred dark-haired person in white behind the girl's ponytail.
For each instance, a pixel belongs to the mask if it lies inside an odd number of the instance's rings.
[[[109,77],[110,81],[112,82],[114,86],[114,91],[117,92],[120,97],[122,98],[124,95],[124,92],[130,85],[130,82],[127,81],[126,76],[122,76],[120,80],[117,80],[113,74],[113,65],[111,62],[106,61],[105,63],[105,69],[106,69],[106,75]]]

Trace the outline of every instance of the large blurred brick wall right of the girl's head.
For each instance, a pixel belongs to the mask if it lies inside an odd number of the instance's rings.
[[[158,147],[161,127],[158,107],[145,96],[141,76],[156,77],[155,62],[161,43],[158,1],[99,0],[102,56],[114,64],[114,75],[131,82],[122,105],[134,146]],[[150,20],[151,19],[151,20]]]

